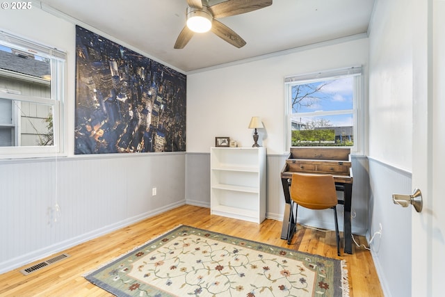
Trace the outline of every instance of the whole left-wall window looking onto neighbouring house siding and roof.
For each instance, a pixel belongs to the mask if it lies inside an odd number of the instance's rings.
[[[0,31],[0,154],[63,152],[65,53]]]

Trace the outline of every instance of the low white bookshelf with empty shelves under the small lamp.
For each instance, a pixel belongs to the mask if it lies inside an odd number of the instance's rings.
[[[261,223],[266,218],[266,148],[211,147],[211,214]]]

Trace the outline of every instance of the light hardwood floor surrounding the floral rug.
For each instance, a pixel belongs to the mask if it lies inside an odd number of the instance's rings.
[[[19,270],[45,259],[3,273],[0,275],[0,296],[112,296],[85,280],[82,275],[181,224],[334,259],[346,259],[350,296],[384,296],[369,250],[353,246],[353,255],[342,251],[341,257],[338,257],[335,232],[299,227],[288,246],[286,241],[280,239],[281,221],[265,220],[258,225],[223,216],[211,216],[209,209],[191,205],[178,207],[69,248],[64,252],[70,257],[30,275],[22,275]],[[366,244],[363,236],[355,236],[355,240]]]

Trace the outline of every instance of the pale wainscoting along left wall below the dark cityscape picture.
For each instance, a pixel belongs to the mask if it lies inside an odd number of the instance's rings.
[[[185,160],[179,152],[0,161],[0,273],[185,204]]]

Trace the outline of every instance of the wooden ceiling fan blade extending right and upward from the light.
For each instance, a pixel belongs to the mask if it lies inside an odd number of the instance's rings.
[[[272,5],[272,0],[227,0],[209,7],[213,17],[229,17],[241,15]]]

